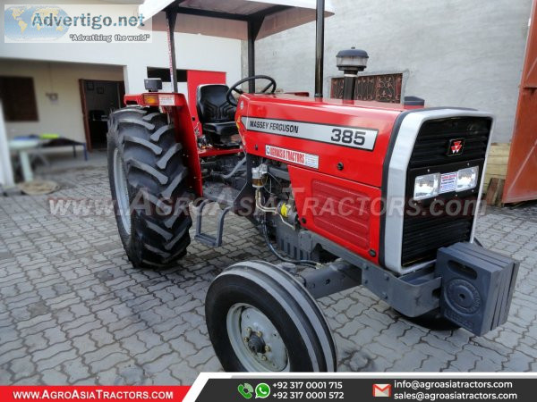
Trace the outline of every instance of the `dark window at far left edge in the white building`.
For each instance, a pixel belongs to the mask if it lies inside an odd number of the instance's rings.
[[[0,98],[5,121],[38,121],[33,78],[0,76]]]

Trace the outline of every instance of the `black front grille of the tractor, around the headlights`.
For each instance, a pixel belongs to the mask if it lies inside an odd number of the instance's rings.
[[[416,176],[430,172],[456,172],[468,165],[478,165],[480,177],[473,191],[441,194],[437,199],[448,203],[460,200],[464,208],[458,214],[409,214],[407,205],[403,222],[401,265],[408,266],[436,258],[439,247],[447,247],[470,239],[477,191],[482,180],[482,170],[490,136],[491,121],[488,118],[460,117],[427,121],[416,138],[406,177],[406,198],[413,197]],[[462,155],[448,156],[452,139],[464,139]],[[417,202],[417,207],[430,211],[432,199]],[[416,205],[413,205],[416,208]],[[415,209],[413,209],[415,211]]]

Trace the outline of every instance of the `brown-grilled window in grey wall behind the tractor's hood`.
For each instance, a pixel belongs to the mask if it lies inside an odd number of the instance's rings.
[[[358,76],[354,99],[398,104],[401,102],[402,82],[402,73]],[[331,96],[343,98],[343,77],[332,79]]]

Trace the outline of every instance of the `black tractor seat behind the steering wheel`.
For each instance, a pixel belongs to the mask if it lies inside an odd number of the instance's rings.
[[[231,136],[238,134],[236,108],[226,99],[228,89],[224,84],[208,84],[197,90],[196,106],[203,134],[216,144],[229,142]]]

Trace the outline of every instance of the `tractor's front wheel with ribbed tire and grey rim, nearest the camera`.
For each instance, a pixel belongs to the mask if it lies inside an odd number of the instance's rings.
[[[273,264],[234,264],[205,300],[209,338],[227,372],[335,372],[337,354],[317,302]]]

